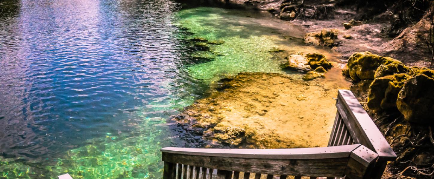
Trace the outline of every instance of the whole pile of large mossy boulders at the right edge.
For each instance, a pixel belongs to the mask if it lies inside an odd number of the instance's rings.
[[[349,58],[343,74],[354,82],[372,81],[368,92],[369,109],[375,112],[398,110],[407,121],[434,122],[434,70],[407,67],[390,57],[356,52]]]

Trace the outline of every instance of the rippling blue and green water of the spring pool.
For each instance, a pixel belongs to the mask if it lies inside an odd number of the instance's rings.
[[[0,2],[0,178],[161,178],[161,147],[197,147],[169,116],[221,75],[286,73],[273,48],[325,51],[302,34],[170,0]]]

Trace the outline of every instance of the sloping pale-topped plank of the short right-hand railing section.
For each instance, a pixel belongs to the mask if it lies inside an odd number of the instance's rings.
[[[338,91],[338,103],[336,103],[336,107],[338,107],[339,113],[342,116],[345,114],[348,117],[348,123],[346,122],[345,124],[349,131],[356,130],[358,131],[356,133],[360,134],[358,136],[352,135],[353,139],[359,139],[359,144],[369,147],[369,149],[378,153],[380,158],[395,160],[395,152],[351,91]],[[350,128],[348,124],[351,124],[352,128]]]

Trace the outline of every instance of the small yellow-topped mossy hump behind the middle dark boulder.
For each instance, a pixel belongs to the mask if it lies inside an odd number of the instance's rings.
[[[390,64],[381,64],[377,70],[375,70],[374,78],[385,77],[393,74],[408,74],[412,75],[409,67],[405,66],[400,61],[393,61]]]

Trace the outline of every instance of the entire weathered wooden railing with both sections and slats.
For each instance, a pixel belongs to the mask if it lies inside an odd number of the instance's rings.
[[[329,147],[295,149],[162,148],[164,179],[277,176],[379,179],[396,155],[349,90],[339,90]]]

